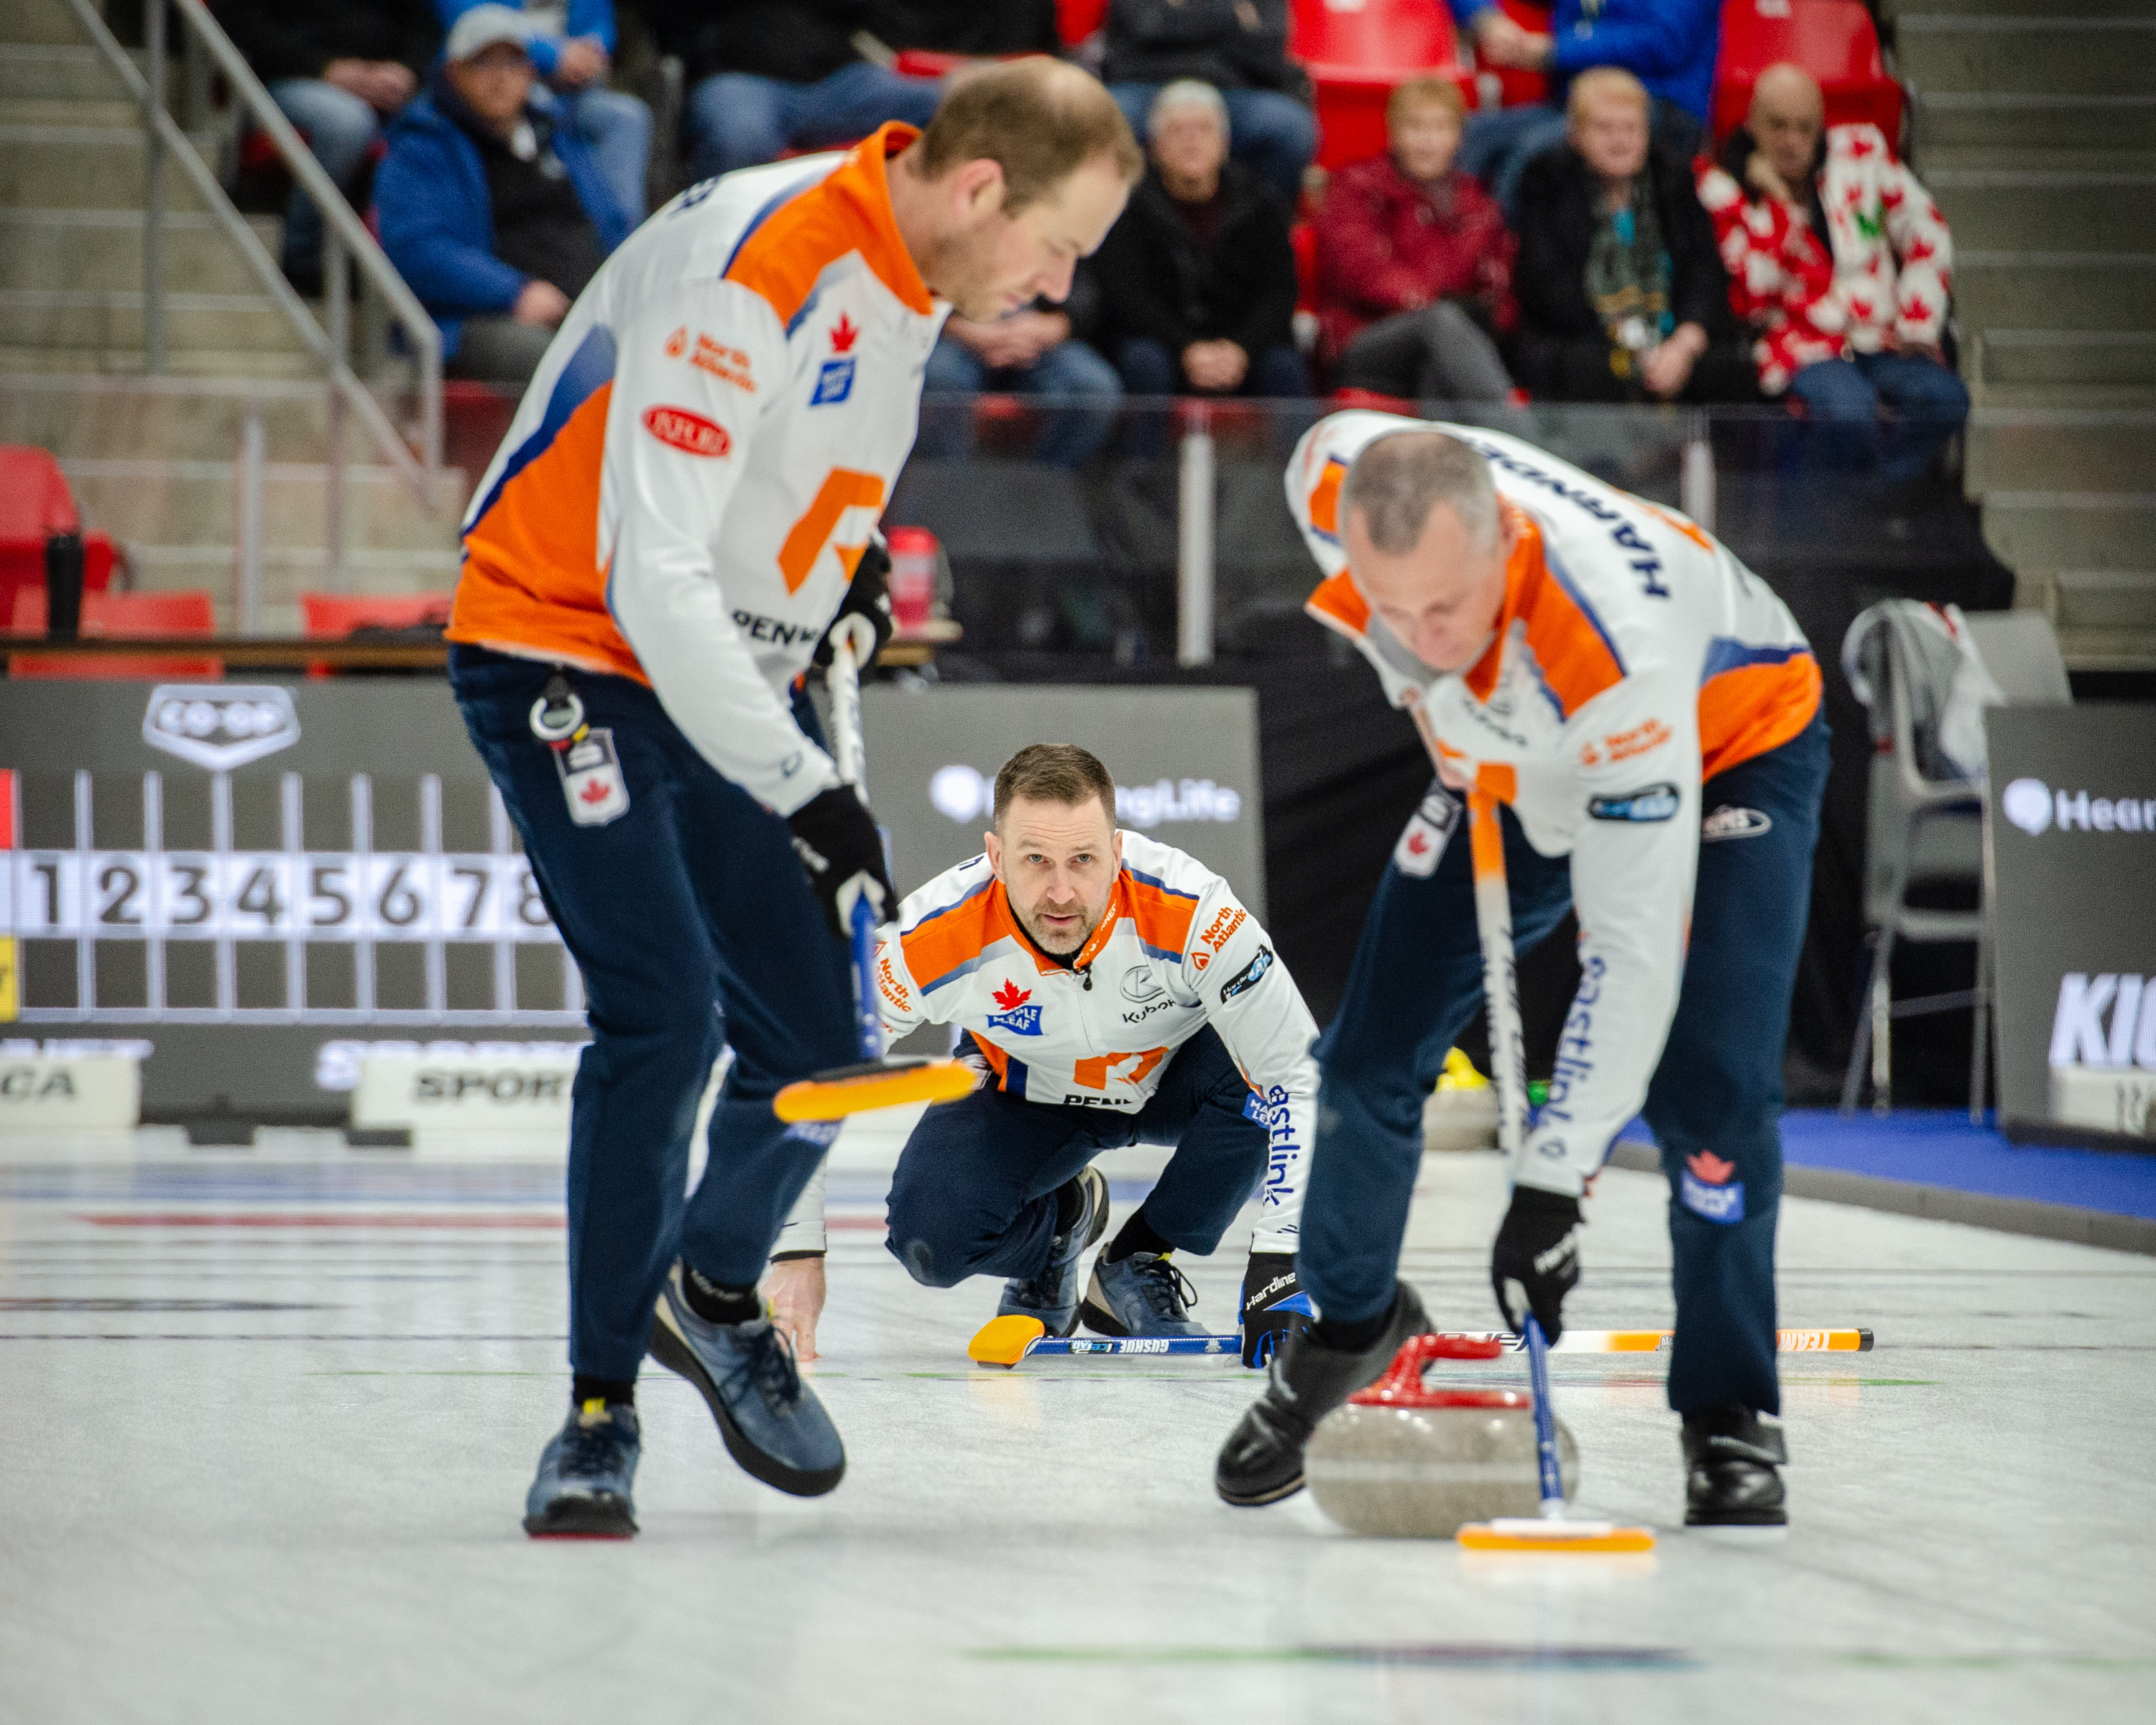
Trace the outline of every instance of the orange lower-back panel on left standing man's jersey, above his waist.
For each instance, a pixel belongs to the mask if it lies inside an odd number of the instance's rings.
[[[599,384],[464,539],[448,638],[541,647],[595,671],[649,681],[606,610],[599,461],[614,386]]]

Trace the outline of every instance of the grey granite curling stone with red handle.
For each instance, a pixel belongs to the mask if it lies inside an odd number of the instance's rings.
[[[1501,1352],[1494,1337],[1408,1337],[1386,1374],[1311,1434],[1304,1477],[1317,1507],[1352,1533],[1395,1540],[1451,1540],[1466,1522],[1539,1514],[1533,1397],[1423,1382],[1434,1361]],[[1557,1460],[1570,1499],[1580,1455],[1563,1421]]]

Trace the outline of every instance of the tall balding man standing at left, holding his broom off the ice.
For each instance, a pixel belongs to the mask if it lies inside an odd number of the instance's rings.
[[[897,895],[798,686],[837,612],[888,632],[871,535],[944,315],[1061,300],[1138,170],[1097,82],[1018,60],[923,134],[696,185],[578,298],[479,483],[451,679],[593,1031],[569,1128],[573,1408],[535,1535],[634,1533],[647,1343],[752,1475],[839,1484],[839,1434],[757,1298],[832,1128],[789,1130],[770,1098],[854,1059],[843,929],[862,895]]]

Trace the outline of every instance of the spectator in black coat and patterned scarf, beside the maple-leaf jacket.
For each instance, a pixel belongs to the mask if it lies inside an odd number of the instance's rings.
[[[1520,177],[1518,375],[1552,401],[1753,401],[1714,226],[1690,164],[1647,129],[1647,91],[1572,80],[1567,142]]]

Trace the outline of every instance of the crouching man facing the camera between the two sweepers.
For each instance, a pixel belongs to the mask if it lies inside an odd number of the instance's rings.
[[[1296,1285],[1317,1024],[1266,929],[1194,856],[1115,826],[1115,781],[1074,744],[996,774],[985,850],[899,908],[875,960],[884,1026],[959,1031],[972,1095],[921,1117],[890,1182],[890,1253],[914,1281],[1005,1279],[998,1313],[1102,1335],[1205,1335],[1173,1253],[1207,1255],[1257,1199],[1242,1356],[1309,1313]],[[1104,1149],[1173,1145],[1108,1225]],[[824,1305],[821,1182],[778,1238],[772,1309],[813,1346]],[[1229,1330],[1216,1322],[1212,1330]],[[806,1352],[806,1348],[804,1348]]]

